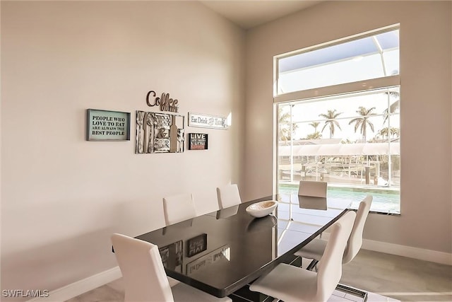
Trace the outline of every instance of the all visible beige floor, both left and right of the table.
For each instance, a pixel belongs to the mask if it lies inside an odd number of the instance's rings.
[[[305,263],[304,263],[305,266]],[[408,257],[360,250],[343,267],[341,284],[368,292],[368,302],[452,301],[452,267]],[[124,285],[118,279],[66,302],[124,301]],[[336,290],[330,302],[363,301]]]

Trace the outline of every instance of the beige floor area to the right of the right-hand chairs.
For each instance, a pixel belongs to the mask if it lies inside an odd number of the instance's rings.
[[[360,250],[343,266],[343,284],[400,301],[452,301],[452,266]]]

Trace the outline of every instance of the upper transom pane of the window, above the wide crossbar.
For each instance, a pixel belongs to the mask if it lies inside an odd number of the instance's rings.
[[[398,30],[278,59],[278,94],[399,74]]]

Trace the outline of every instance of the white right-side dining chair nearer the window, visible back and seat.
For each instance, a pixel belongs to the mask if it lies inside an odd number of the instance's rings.
[[[367,216],[369,215],[372,199],[373,197],[371,195],[367,195],[362,202],[359,202],[355,223],[353,223],[352,233],[350,234],[350,238],[348,239],[347,247],[345,248],[343,255],[343,264],[352,261],[362,246],[362,232],[364,231],[364,224],[366,223]],[[327,243],[328,240],[314,239],[307,245],[304,245],[301,250],[295,252],[295,255],[312,259],[308,269],[313,269],[317,262],[321,259]]]

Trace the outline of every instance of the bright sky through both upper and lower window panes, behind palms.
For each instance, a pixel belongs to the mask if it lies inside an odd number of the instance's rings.
[[[278,66],[280,66],[278,93],[303,91],[398,74],[398,33],[399,30],[393,30],[374,37],[364,37],[282,58],[278,61]],[[398,87],[390,90],[399,92]],[[348,122],[355,117],[360,117],[357,110],[359,110],[359,106],[363,106],[367,109],[375,108],[372,112],[376,116],[369,117],[374,124],[374,132],[371,132],[369,128],[367,130],[367,139],[371,139],[379,130],[388,127],[388,121],[383,124],[383,112],[398,100],[398,98],[388,96],[385,93],[387,91],[389,90],[383,89],[297,102],[292,109],[292,122],[298,124],[294,138],[300,139],[314,133],[314,127],[309,125],[311,122],[320,122],[317,131],[321,132],[325,119],[319,117],[319,114],[326,114],[328,110],[336,110],[336,112],[341,112],[336,120],[340,122],[342,130],[336,127],[333,138],[350,139],[350,141],[362,139],[360,129],[355,132],[355,124],[349,125]],[[289,108],[287,105],[281,106],[286,110]],[[396,115],[391,115],[389,122],[391,127],[400,128],[398,112]],[[322,132],[322,138],[330,138],[328,126]]]

